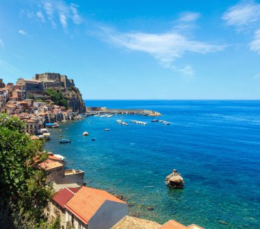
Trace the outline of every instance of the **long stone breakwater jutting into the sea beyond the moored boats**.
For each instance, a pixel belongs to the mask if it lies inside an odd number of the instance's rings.
[[[86,113],[89,115],[112,114],[112,115],[144,115],[144,116],[161,116],[161,113],[154,110],[144,109],[109,109],[102,107],[87,107]]]

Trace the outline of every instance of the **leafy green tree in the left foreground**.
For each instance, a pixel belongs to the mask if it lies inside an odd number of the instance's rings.
[[[47,154],[42,153],[43,143],[32,141],[24,130],[23,121],[1,113],[0,208],[10,208],[8,215],[13,219],[31,219],[40,226],[46,220],[44,208],[53,189],[46,185],[46,175],[36,164],[47,159]]]

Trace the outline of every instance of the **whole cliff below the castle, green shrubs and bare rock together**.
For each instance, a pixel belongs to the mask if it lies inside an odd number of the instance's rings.
[[[57,105],[65,106],[67,109],[73,110],[73,112],[86,112],[81,93],[75,86],[71,86],[70,88],[49,88],[44,93],[51,96],[51,100]]]

